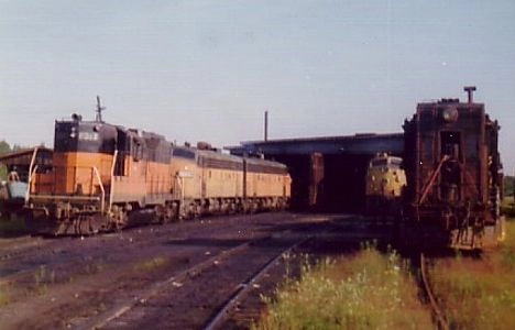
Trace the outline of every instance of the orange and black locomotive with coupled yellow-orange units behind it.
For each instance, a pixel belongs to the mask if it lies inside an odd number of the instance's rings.
[[[89,234],[204,213],[285,208],[283,164],[222,154],[200,143],[101,120],[55,122],[52,170],[30,170],[25,210],[33,232]]]

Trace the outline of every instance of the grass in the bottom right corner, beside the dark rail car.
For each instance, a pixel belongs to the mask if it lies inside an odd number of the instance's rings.
[[[439,261],[431,271],[452,329],[515,329],[515,220],[509,220],[496,251],[480,260]]]

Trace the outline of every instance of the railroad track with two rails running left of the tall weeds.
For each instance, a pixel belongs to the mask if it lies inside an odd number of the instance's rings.
[[[154,284],[133,299],[120,302],[78,328],[146,327],[150,323],[145,322],[152,320],[155,327],[220,329],[230,311],[258,286],[285,253],[326,231],[318,231],[315,235],[292,235],[284,231],[230,248]],[[182,300],[183,296],[196,296],[196,300]],[[196,309],[200,311],[191,312]],[[183,312],[196,316],[182,317]],[[169,317],[163,317],[165,315],[173,315],[174,323],[165,323],[171,321]]]

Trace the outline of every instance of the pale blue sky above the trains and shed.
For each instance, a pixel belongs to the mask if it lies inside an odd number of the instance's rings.
[[[515,2],[0,0],[0,140],[53,143],[79,112],[234,145],[401,132],[416,103],[475,99],[515,152]]]

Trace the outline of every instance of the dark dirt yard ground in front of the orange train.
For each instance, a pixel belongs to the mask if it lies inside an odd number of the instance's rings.
[[[344,219],[260,213],[88,238],[0,239],[0,324],[201,329],[255,270],[328,226],[339,223],[340,232],[348,232]],[[359,238],[359,232],[353,230],[352,235]],[[338,253],[342,248],[330,241],[318,239],[309,249]],[[273,292],[285,272],[284,263],[273,267],[223,328],[248,328],[262,311],[260,295]]]

